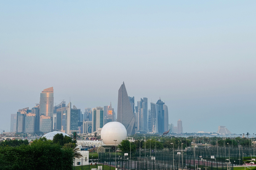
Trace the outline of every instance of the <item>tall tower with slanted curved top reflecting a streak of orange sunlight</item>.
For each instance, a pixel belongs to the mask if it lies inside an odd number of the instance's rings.
[[[53,87],[44,89],[42,91],[42,93],[40,93],[40,103],[39,103],[39,110],[40,110],[40,116],[49,116],[50,120],[51,120],[51,129],[54,128],[53,126],[53,110],[54,110],[54,105],[53,105]],[[49,123],[49,119],[42,117],[43,119],[45,119],[44,121],[40,122],[47,122],[47,124]],[[41,118],[40,118],[41,119]],[[47,121],[46,121],[47,120]],[[46,124],[45,124],[46,125]],[[44,126],[45,126],[44,125]],[[44,127],[41,126],[40,127]],[[48,129],[48,128],[44,128],[44,129]],[[47,131],[47,132],[51,132]]]

